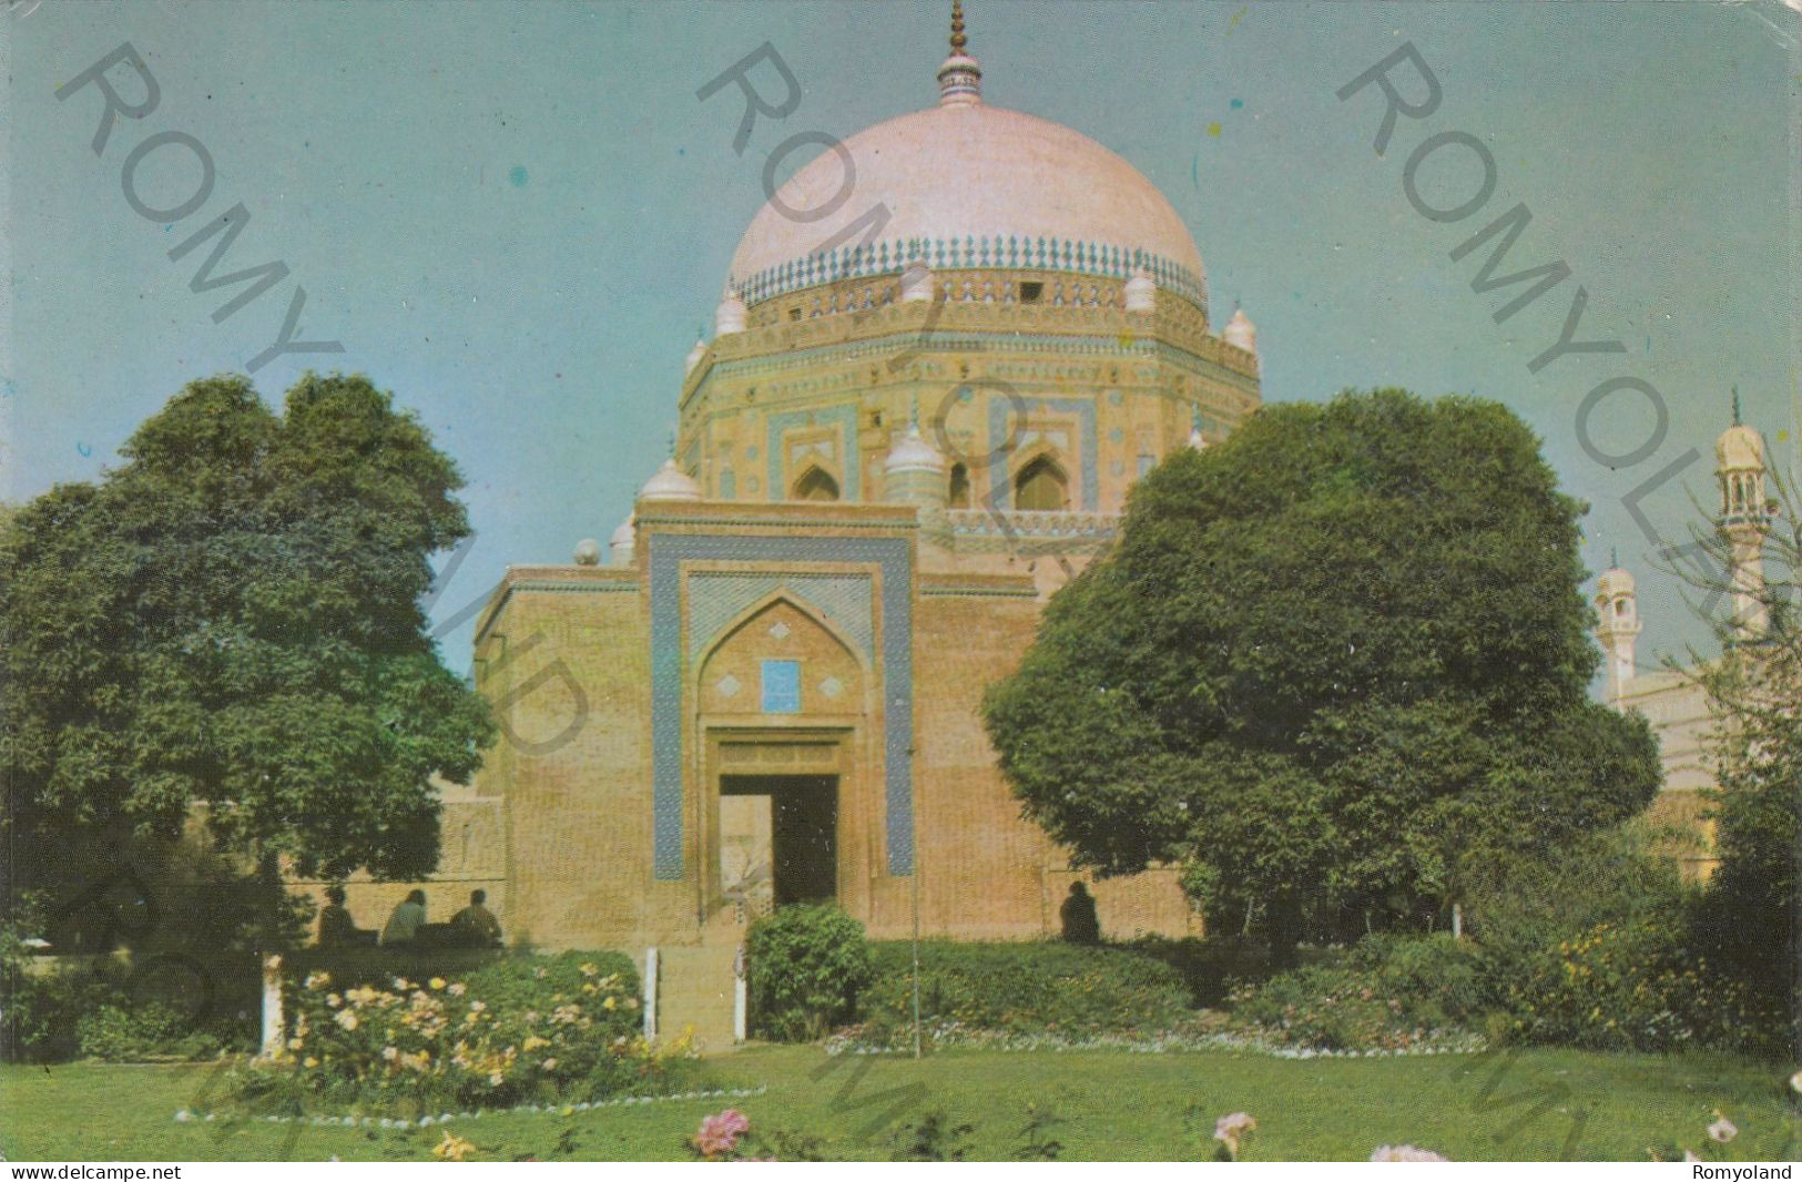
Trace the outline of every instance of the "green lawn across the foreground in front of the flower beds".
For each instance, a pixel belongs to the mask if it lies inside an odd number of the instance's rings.
[[[824,1070],[822,1070],[824,1068]],[[860,1068],[863,1074],[858,1076]],[[76,1063],[0,1068],[0,1151],[9,1160],[422,1159],[443,1130],[353,1130],[265,1123],[177,1124],[207,1108],[207,1067]],[[1006,1159],[1027,1105],[1058,1117],[1067,1159],[1195,1159],[1215,1117],[1258,1119],[1247,1157],[1364,1159],[1413,1142],[1452,1159],[1552,1159],[1575,1130],[1575,1157],[1647,1160],[1701,1148],[1714,1110],[1741,1130],[1739,1160],[1789,1159],[1802,1115],[1789,1068],[1730,1056],[1526,1050],[1503,1056],[1285,1061],[1231,1052],[942,1052],[827,1059],[815,1047],[753,1047],[717,1059],[723,1085],[768,1085],[735,1101],[759,1130],[824,1139],[833,1157],[888,1157],[881,1115],[942,1110],[969,1123],[971,1157]],[[1497,1077],[1499,1074],[1499,1077]],[[1494,1083],[1492,1083],[1494,1079]],[[701,1115],[724,1101],[661,1101],[560,1115],[490,1115],[450,1128],[481,1160],[548,1157],[573,1130],[578,1159],[679,1159]],[[1579,1121],[1577,1114],[1584,1114]],[[894,1128],[892,1123],[887,1126]]]

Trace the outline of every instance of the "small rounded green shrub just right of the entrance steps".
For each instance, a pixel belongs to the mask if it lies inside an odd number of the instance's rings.
[[[764,1038],[807,1041],[845,1022],[870,980],[863,924],[833,905],[796,903],[746,933],[751,1025]]]

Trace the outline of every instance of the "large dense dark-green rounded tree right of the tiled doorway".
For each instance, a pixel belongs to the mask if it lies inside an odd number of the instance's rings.
[[[1588,697],[1580,512],[1494,402],[1265,407],[1052,596],[984,705],[1000,768],[1079,865],[1179,861],[1279,955],[1436,912],[1658,787],[1645,723]]]

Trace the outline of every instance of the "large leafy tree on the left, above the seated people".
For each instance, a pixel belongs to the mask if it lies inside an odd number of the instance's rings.
[[[121,454],[0,532],[14,892],[195,818],[252,865],[431,870],[429,777],[467,782],[494,733],[420,607],[427,557],[469,535],[456,465],[337,375],[279,416],[245,378],[195,382]]]

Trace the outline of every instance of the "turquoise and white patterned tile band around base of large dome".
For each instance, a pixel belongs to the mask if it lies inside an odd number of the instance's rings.
[[[899,277],[901,270],[914,259],[923,259],[933,270],[1004,267],[1065,270],[1079,276],[1108,276],[1114,279],[1130,279],[1135,268],[1144,267],[1159,286],[1195,301],[1204,312],[1207,310],[1207,285],[1202,283],[1202,277],[1160,254],[1096,241],[1020,238],[1015,234],[1006,238],[1000,234],[982,238],[908,238],[892,243],[840,247],[838,250],[822,250],[778,267],[769,267],[742,281],[735,279],[735,283],[744,303],[755,305],[822,283],[838,283],[840,279]]]

